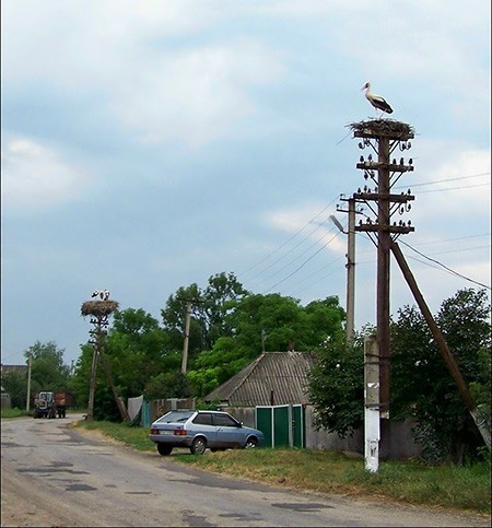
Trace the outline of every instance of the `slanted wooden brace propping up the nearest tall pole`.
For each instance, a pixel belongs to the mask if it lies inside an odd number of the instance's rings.
[[[467,409],[470,412],[471,418],[473,419],[473,422],[477,424],[477,427],[480,431],[480,434],[482,435],[482,438],[485,445],[490,449],[491,448],[490,429],[488,427],[487,422],[484,420],[480,420],[478,416],[477,403],[473,401],[473,398],[470,391],[468,390],[468,386],[465,382],[465,378],[462,377],[461,371],[459,369],[455,361],[455,357],[453,356],[446,343],[446,340],[443,333],[437,327],[437,324],[435,322],[434,317],[432,316],[431,310],[429,309],[429,306],[425,303],[425,300],[423,298],[423,295],[419,290],[417,281],[412,272],[410,271],[410,268],[407,263],[407,260],[405,259],[403,254],[401,253],[400,247],[396,242],[391,242],[390,248],[393,254],[395,255],[395,258],[398,262],[398,266],[401,269],[401,272],[403,273],[403,277],[408,285],[410,286],[413,297],[415,298],[417,304],[419,305],[419,308],[422,312],[422,315],[424,316],[429,325],[429,328],[431,329],[432,335],[434,336],[434,339],[435,339],[435,342],[437,343],[441,355],[446,362],[447,369],[449,371],[449,374],[453,376],[453,379],[456,382],[459,389],[459,394],[461,395],[461,398],[465,401],[465,404],[467,406]]]

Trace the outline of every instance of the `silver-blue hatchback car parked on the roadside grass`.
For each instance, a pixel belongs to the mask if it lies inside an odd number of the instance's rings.
[[[194,455],[227,448],[254,448],[263,444],[263,433],[246,427],[222,411],[169,411],[152,423],[149,438],[160,455],[174,447],[188,447]]]

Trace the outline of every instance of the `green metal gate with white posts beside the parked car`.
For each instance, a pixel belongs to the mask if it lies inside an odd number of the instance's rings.
[[[266,447],[306,447],[304,406],[258,406],[255,413]]]

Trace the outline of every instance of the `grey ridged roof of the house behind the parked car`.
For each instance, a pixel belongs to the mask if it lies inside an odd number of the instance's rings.
[[[307,403],[307,374],[314,361],[313,352],[265,352],[204,401],[244,407]]]

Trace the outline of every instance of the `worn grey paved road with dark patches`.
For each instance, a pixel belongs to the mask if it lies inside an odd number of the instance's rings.
[[[69,427],[79,418],[2,421],[2,526],[490,526],[210,474]]]

